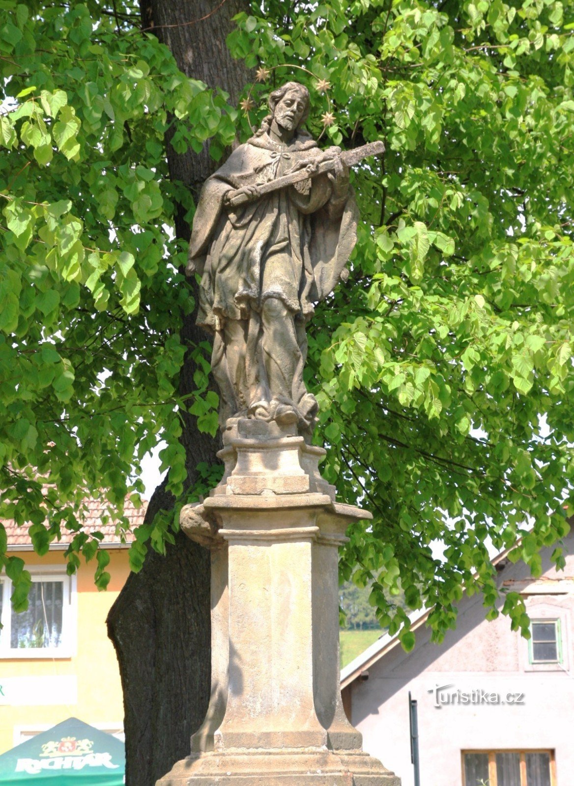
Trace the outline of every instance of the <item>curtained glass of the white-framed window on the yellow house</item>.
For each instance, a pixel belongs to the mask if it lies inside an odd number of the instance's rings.
[[[62,640],[63,606],[63,582],[32,582],[27,611],[12,612],[10,647],[59,647]]]

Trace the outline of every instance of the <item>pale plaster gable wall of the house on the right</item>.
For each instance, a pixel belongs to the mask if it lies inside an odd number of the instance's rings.
[[[392,648],[370,667],[368,679],[351,683],[351,720],[363,734],[366,751],[393,769],[403,786],[414,784],[409,692],[418,702],[422,786],[461,786],[462,751],[501,748],[555,751],[557,786],[572,786],[574,538],[567,545],[564,572],[550,567],[548,553],[542,580],[529,583],[524,566],[512,564],[499,574],[501,584],[525,593],[531,619],[561,619],[561,664],[532,666],[528,641],[510,630],[506,617],[486,622],[482,599],[476,596],[462,600],[457,629],[443,644],[432,644],[429,630],[419,627],[410,655]],[[499,703],[436,707],[437,685],[450,686],[443,696],[483,691],[499,696]]]

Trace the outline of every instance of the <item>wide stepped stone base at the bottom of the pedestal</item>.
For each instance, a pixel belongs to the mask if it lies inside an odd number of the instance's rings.
[[[400,779],[362,751],[299,748],[191,755],[156,786],[400,786]]]

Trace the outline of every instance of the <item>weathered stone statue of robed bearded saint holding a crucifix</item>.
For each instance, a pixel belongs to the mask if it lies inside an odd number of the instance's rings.
[[[197,324],[215,336],[222,427],[229,417],[252,417],[309,435],[318,406],[303,380],[305,325],[314,303],[346,277],[357,210],[340,149],[322,151],[304,130],[307,88],[286,83],[269,108],[256,134],[205,182],[187,270],[201,275]],[[318,174],[327,158],[329,171]],[[261,191],[302,169],[308,177],[294,185]],[[238,194],[244,204],[234,207]]]

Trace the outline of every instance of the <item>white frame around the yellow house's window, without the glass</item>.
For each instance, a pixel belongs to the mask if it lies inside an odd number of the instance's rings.
[[[0,660],[42,660],[69,659],[75,656],[77,645],[77,579],[68,576],[62,565],[30,565],[26,566],[32,582],[61,581],[64,584],[62,604],[62,637],[59,647],[10,647],[10,631],[12,625],[12,582],[2,571],[0,575],[0,591],[2,591],[2,630],[0,630]]]

